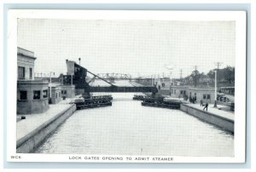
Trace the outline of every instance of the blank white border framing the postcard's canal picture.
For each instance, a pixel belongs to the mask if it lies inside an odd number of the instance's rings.
[[[75,163],[156,163],[154,161],[85,161],[71,160],[67,154],[16,154],[16,73],[17,73],[17,19],[66,19],[66,20],[235,20],[236,21],[236,115],[235,157],[168,157],[171,162],[158,163],[244,163],[246,132],[246,12],[245,11],[143,11],[143,10],[38,10],[11,9],[8,18],[7,58],[7,160],[9,162],[75,162]],[[239,106],[238,106],[239,105]],[[21,158],[11,159],[10,156]],[[91,155],[87,155],[90,156]],[[107,156],[96,156],[102,159]],[[140,156],[117,156],[134,159]],[[160,156],[143,156],[149,159]],[[166,156],[161,156],[166,157]]]

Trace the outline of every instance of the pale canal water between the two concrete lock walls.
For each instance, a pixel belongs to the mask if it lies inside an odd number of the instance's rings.
[[[77,111],[35,153],[233,157],[234,136],[179,111],[112,93],[113,106]]]

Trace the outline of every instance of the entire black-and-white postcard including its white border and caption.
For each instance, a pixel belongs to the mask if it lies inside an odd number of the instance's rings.
[[[10,27],[9,155],[245,161],[245,12],[24,11]]]

